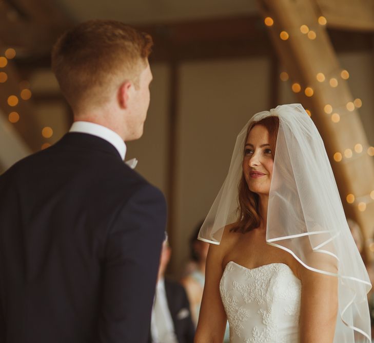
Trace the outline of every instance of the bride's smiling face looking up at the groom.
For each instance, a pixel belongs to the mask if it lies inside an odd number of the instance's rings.
[[[264,126],[255,125],[244,147],[243,172],[248,188],[257,194],[269,194],[272,171],[269,133]]]

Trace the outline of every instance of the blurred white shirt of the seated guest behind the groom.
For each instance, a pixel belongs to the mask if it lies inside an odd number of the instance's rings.
[[[154,343],[178,343],[167,303],[164,278],[160,279],[156,285],[151,318],[151,336]]]

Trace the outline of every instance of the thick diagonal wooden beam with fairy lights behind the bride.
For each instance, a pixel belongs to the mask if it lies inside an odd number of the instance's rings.
[[[272,17],[274,21],[269,33],[283,65],[291,80],[302,87],[298,93],[299,101],[311,110],[312,119],[324,138],[346,214],[360,224],[365,238],[371,238],[374,233],[374,202],[370,201],[368,193],[374,189],[374,160],[366,153],[369,145],[358,110],[348,111],[346,107],[353,97],[347,81],[341,77],[341,66],[326,29],[318,24],[319,13],[315,4],[313,0],[259,0],[259,4],[263,15]],[[316,39],[311,40],[301,33],[302,25],[313,28]],[[281,40],[281,31],[287,31],[289,39]],[[317,81],[318,73],[325,75],[324,82]],[[336,79],[338,86],[330,86],[331,78]],[[313,96],[304,95],[306,87],[313,88]],[[333,122],[331,114],[325,113],[326,104],[332,106],[331,113],[340,116],[339,122]],[[355,152],[357,143],[362,145],[363,152]],[[352,152],[351,158],[344,156],[346,149]],[[334,161],[336,152],[343,156],[340,162]],[[357,175],[360,175],[359,179]],[[352,205],[347,203],[346,196],[350,193],[357,198],[368,199],[365,210],[360,211],[358,201]],[[368,257],[372,259],[372,254]]]

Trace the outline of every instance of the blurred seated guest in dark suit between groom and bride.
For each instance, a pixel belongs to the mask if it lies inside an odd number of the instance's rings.
[[[195,327],[186,292],[181,284],[164,277],[170,255],[166,239],[160,257],[149,342],[193,343]]]

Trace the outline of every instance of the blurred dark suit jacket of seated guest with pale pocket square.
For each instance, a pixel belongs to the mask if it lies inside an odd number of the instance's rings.
[[[165,279],[165,293],[178,343],[193,343],[195,326],[192,322],[190,304],[184,287],[179,282]],[[151,337],[148,342],[152,342]]]

